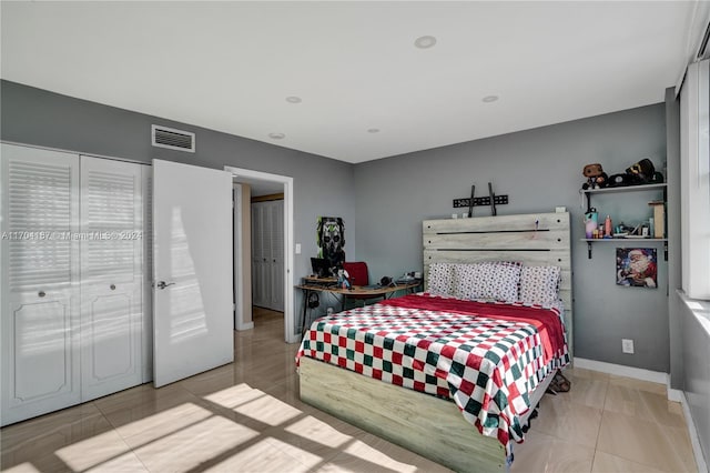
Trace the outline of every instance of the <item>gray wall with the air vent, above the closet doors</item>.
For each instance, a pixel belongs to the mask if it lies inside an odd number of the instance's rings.
[[[294,235],[302,243],[295,256],[296,280],[311,272],[316,254],[315,227],[320,215],[345,220],[346,236],[355,221],[353,165],[245,138],[159,119],[1,81],[0,139],[139,162],[151,159],[206,168],[233,165],[292,177],[294,180]],[[151,124],[196,133],[196,152],[151,147]],[[348,228],[349,225],[349,228]],[[355,241],[346,239],[346,254]],[[300,298],[300,293],[298,293]],[[296,300],[298,310],[301,300]],[[300,312],[298,312],[300,314]],[[296,322],[298,318],[296,318]]]

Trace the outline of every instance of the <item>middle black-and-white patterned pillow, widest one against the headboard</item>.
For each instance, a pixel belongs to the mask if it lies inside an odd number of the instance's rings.
[[[453,294],[460,299],[516,301],[520,268],[520,263],[513,261],[457,264]]]

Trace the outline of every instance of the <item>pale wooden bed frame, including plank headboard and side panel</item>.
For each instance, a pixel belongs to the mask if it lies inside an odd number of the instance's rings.
[[[572,359],[569,213],[426,220],[423,241],[425,290],[432,263],[505,260],[560,266],[560,299]],[[322,411],[457,472],[506,471],[503,445],[480,435],[452,401],[308,358],[301,359],[300,373],[301,399]],[[552,378],[547,376],[534,391],[531,405],[539,402]]]

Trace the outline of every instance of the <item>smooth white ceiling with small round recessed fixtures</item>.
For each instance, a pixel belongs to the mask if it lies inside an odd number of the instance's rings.
[[[356,163],[661,102],[707,7],[2,1],[1,76]]]

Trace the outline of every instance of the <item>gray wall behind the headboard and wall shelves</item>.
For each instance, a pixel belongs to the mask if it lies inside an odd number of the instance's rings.
[[[610,113],[518,133],[477,140],[355,167],[355,227],[357,256],[371,274],[398,275],[420,270],[422,220],[450,218],[452,200],[468,197],[476,184],[486,195],[487,183],[510,203],[498,214],[554,211],[565,205],[572,221],[576,356],[669,371],[668,264],[659,243],[659,288],[622,288],[615,281],[615,248],[596,243],[587,259],[579,189],[585,164],[599,162],[607,173],[619,173],[639,159],[657,168],[666,161],[663,104]],[[600,214],[615,222],[650,217],[653,193],[595,198]],[[458,209],[460,214],[466,209]],[[476,208],[475,215],[489,215]],[[630,246],[636,246],[631,244]],[[636,354],[621,353],[621,339],[633,339]]]

